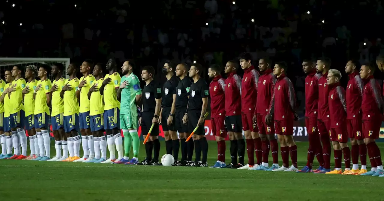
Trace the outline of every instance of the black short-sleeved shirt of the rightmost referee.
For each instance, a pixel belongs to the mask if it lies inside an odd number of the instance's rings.
[[[190,96],[189,96],[189,109],[201,109],[203,107],[202,98],[209,97],[209,87],[203,78],[197,80],[197,82],[192,83],[190,87]]]

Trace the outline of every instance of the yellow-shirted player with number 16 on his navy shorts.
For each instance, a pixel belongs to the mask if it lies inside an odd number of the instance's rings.
[[[56,156],[48,161],[63,161],[68,158],[68,141],[64,131],[64,101],[60,96],[61,89],[66,82],[62,76],[63,70],[64,65],[61,63],[55,63],[51,67],[51,75],[54,80],[49,95],[52,106],[51,125],[55,137]],[[61,149],[63,149],[63,155],[61,155]]]

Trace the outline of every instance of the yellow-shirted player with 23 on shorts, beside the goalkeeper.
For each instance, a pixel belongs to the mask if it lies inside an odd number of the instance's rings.
[[[104,98],[104,130],[107,136],[109,159],[101,163],[112,163],[116,160],[115,144],[118,151],[118,161],[123,157],[122,137],[120,132],[120,102],[117,99],[117,91],[120,87],[121,77],[116,71],[116,61],[109,59],[107,66],[108,74],[99,89]]]

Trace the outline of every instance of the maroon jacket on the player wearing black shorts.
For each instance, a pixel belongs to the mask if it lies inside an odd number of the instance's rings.
[[[225,115],[241,114],[241,77],[235,72],[228,74],[225,79]]]

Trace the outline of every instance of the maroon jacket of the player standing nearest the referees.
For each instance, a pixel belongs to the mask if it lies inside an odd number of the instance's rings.
[[[225,94],[224,78],[219,75],[213,78],[209,84],[209,94],[211,95],[211,117],[217,118],[225,116]]]

